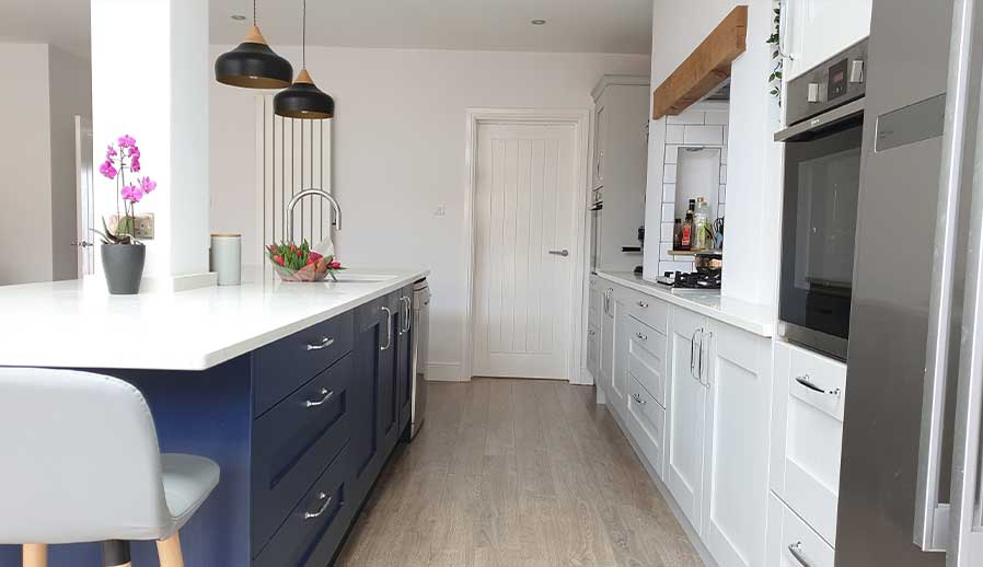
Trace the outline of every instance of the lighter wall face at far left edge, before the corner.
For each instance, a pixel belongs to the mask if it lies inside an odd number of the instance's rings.
[[[48,46],[0,44],[16,86],[0,89],[0,285],[51,279]]]

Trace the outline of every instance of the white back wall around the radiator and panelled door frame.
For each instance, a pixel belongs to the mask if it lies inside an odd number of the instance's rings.
[[[229,46],[213,47],[212,57]],[[292,62],[296,47],[275,46]],[[344,211],[339,259],[429,266],[430,361],[461,378],[466,306],[464,127],[467,107],[591,106],[603,73],[646,73],[647,56],[308,48],[314,81],[334,96],[333,182]],[[211,229],[253,233],[254,93],[211,89]],[[586,196],[585,196],[586,198]],[[446,207],[443,217],[435,216]]]

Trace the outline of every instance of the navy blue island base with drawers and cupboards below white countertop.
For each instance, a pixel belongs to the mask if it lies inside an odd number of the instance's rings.
[[[221,466],[181,532],[189,567],[333,562],[407,431],[412,291],[410,282],[206,370],[89,369],[143,393],[163,452]],[[16,511],[0,502],[0,513]],[[132,554],[137,566],[158,564],[153,542],[134,542]],[[19,567],[20,556],[0,546],[0,567]],[[49,557],[50,567],[102,565],[95,542],[51,545]]]

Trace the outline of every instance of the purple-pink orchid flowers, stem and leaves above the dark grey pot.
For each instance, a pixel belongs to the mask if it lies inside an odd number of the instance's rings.
[[[131,177],[131,181],[127,182],[127,172],[137,174],[140,170],[140,148],[131,136],[120,136],[115,146],[111,143],[106,147],[106,161],[99,166],[99,172],[104,177],[116,181],[118,222],[115,232],[109,230],[105,219],[103,219],[104,231],[93,231],[102,236],[103,244],[140,244],[136,238],[137,219],[134,207],[157,188],[157,182],[149,176]]]

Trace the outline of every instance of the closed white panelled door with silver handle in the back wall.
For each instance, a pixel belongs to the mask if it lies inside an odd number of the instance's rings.
[[[482,124],[473,373],[569,379],[576,128]]]

